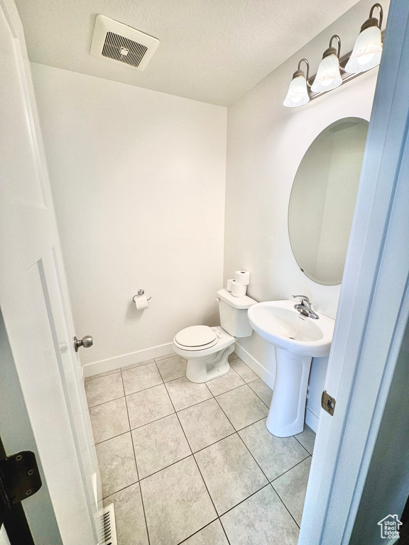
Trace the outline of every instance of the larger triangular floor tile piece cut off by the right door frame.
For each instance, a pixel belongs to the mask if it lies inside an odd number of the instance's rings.
[[[271,483],[298,525],[301,524],[310,467],[311,456]]]

